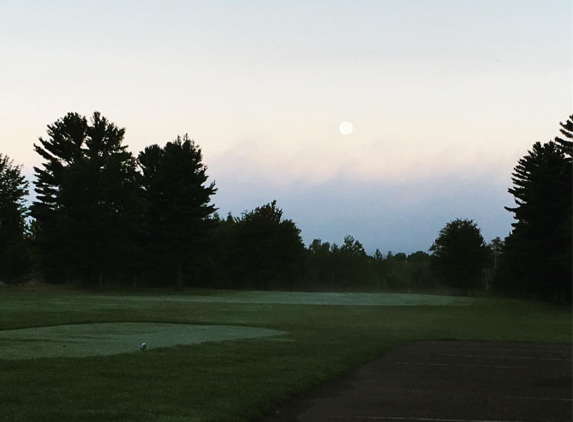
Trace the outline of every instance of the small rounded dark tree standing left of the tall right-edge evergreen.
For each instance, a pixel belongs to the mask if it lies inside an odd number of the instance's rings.
[[[462,292],[483,288],[489,250],[477,224],[456,219],[446,224],[430,248],[436,277]]]

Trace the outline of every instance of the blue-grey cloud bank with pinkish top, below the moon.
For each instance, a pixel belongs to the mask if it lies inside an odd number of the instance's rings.
[[[312,166],[308,158],[291,167],[293,153],[265,161],[264,154],[243,151],[211,160],[220,213],[238,215],[277,199],[307,244],[315,238],[340,244],[350,234],[370,253],[376,248],[411,253],[428,250],[455,218],[476,221],[486,241],[511,230],[512,216],[503,208],[513,203],[507,193],[511,166],[468,161],[464,168],[462,160],[453,168],[432,167],[429,160],[406,173],[397,170],[400,164],[370,174],[352,159],[345,167],[339,161]]]

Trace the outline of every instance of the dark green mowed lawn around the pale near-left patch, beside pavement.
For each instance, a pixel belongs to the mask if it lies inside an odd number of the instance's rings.
[[[0,289],[0,330],[112,322],[254,327],[283,334],[173,347],[148,342],[145,352],[137,343],[133,352],[107,356],[0,359],[1,420],[256,421],[296,394],[404,343],[572,341],[571,308],[525,301]],[[145,333],[130,341],[139,335]],[[98,341],[94,336],[93,347]],[[21,346],[0,339],[2,349]]]

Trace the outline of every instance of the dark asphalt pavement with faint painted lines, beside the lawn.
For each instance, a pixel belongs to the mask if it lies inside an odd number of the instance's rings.
[[[571,350],[532,343],[413,343],[268,421],[571,422]]]

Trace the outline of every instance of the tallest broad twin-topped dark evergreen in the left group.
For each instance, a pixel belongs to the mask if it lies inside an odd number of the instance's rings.
[[[125,129],[95,112],[88,122],[68,113],[48,126],[34,148],[37,241],[53,281],[103,282],[130,258],[137,215],[135,160],[123,145]]]

